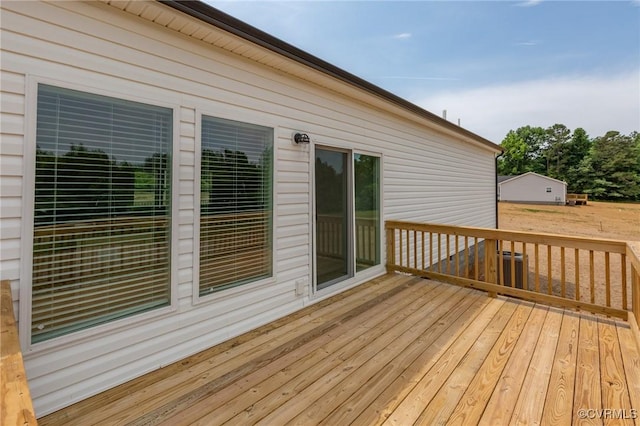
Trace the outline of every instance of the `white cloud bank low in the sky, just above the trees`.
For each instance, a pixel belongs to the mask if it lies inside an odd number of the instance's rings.
[[[447,110],[452,122],[500,143],[509,130],[555,123],[590,137],[640,131],[640,70],[618,75],[564,76],[441,93],[414,102]]]

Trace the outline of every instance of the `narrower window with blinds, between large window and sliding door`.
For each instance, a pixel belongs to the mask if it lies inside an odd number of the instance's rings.
[[[273,129],[202,116],[200,295],[272,276]]]

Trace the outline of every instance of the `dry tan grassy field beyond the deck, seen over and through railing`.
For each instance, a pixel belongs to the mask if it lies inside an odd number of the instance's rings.
[[[542,232],[551,234],[562,234],[570,236],[589,237],[597,239],[615,239],[625,241],[640,241],[640,204],[631,203],[605,203],[589,202],[586,206],[553,206],[553,205],[532,205],[500,203],[498,206],[500,229]],[[516,251],[521,247],[516,247]],[[573,250],[567,251],[565,258],[565,275],[567,278],[566,294],[573,298],[575,295],[575,280],[569,279],[575,274],[575,257]],[[540,263],[542,273],[547,276],[546,254],[541,250]],[[588,273],[588,251],[581,250],[579,268],[580,275],[580,299],[588,301],[590,299],[590,281]],[[552,287],[553,294],[559,295],[561,282],[561,259],[559,250],[556,248],[552,253]],[[611,298],[613,306],[621,303],[621,265],[619,256],[612,256],[611,259]],[[531,282],[531,265],[529,262],[529,282]],[[628,263],[628,260],[627,260]],[[595,255],[595,301],[604,303],[604,282],[605,266],[602,253]],[[627,294],[631,294],[631,277],[627,276]],[[547,280],[543,279],[546,288]],[[544,292],[544,288],[542,289]],[[628,306],[627,306],[628,307]]]

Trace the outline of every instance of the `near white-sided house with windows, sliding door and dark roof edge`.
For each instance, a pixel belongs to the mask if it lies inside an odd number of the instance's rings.
[[[38,416],[384,274],[387,219],[495,226],[499,146],[205,3],[0,7]]]

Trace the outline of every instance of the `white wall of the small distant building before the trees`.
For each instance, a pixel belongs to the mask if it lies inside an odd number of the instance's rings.
[[[525,174],[502,182],[500,201],[565,204],[567,185],[555,179],[536,174]],[[547,192],[551,188],[551,192]]]

